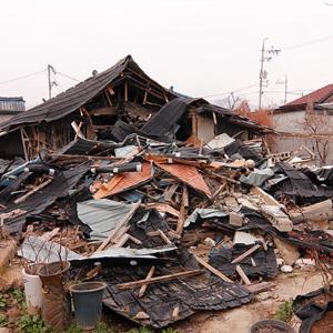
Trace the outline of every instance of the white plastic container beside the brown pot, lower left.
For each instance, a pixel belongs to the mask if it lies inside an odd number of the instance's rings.
[[[39,264],[32,264],[33,271],[37,272]],[[42,283],[39,276],[27,274],[26,270],[22,270],[24,294],[27,301],[27,311],[31,315],[40,314],[42,305]]]

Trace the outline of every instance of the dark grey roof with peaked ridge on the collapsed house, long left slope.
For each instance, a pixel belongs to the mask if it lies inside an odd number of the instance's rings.
[[[39,104],[22,114],[18,114],[8,122],[2,123],[0,129],[8,130],[14,125],[40,123],[42,121],[51,122],[61,119],[85,104],[89,100],[105,89],[108,84],[112,83],[117,78],[119,78],[125,69],[134,70],[137,73],[143,75],[150,82],[153,82],[160,87],[160,89],[164,90],[169,97],[172,97],[172,93],[168,89],[161,87],[158,82],[150,79],[134,62],[132,57],[128,56],[121,59],[110,69],[98,73],[83,82],[80,82],[79,84],[48,100],[47,102]]]

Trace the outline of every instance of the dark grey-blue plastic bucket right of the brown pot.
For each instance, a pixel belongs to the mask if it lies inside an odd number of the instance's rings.
[[[70,286],[75,321],[83,330],[93,330],[102,316],[104,282],[83,282]]]

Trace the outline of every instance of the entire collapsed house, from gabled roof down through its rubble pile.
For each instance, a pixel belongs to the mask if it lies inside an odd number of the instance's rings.
[[[242,306],[279,270],[332,261],[333,168],[240,140],[266,129],[176,95],[131,57],[1,130],[21,151],[0,145],[0,240],[105,282],[103,304],[141,325]]]

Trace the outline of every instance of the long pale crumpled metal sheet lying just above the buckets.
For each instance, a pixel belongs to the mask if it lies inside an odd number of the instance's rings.
[[[151,259],[154,260],[154,254],[174,251],[174,245],[160,249],[129,249],[129,248],[111,248],[101,252],[95,252],[89,256],[78,254],[65,246],[52,241],[46,241],[42,238],[29,235],[22,243],[18,255],[32,262],[51,263],[59,260],[62,261],[85,261],[98,259]]]

